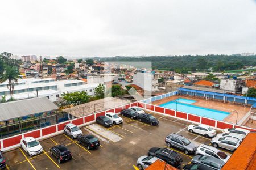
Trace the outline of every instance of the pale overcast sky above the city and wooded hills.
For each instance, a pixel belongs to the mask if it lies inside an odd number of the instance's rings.
[[[0,52],[84,57],[256,52],[256,0],[6,0],[0,7]]]

